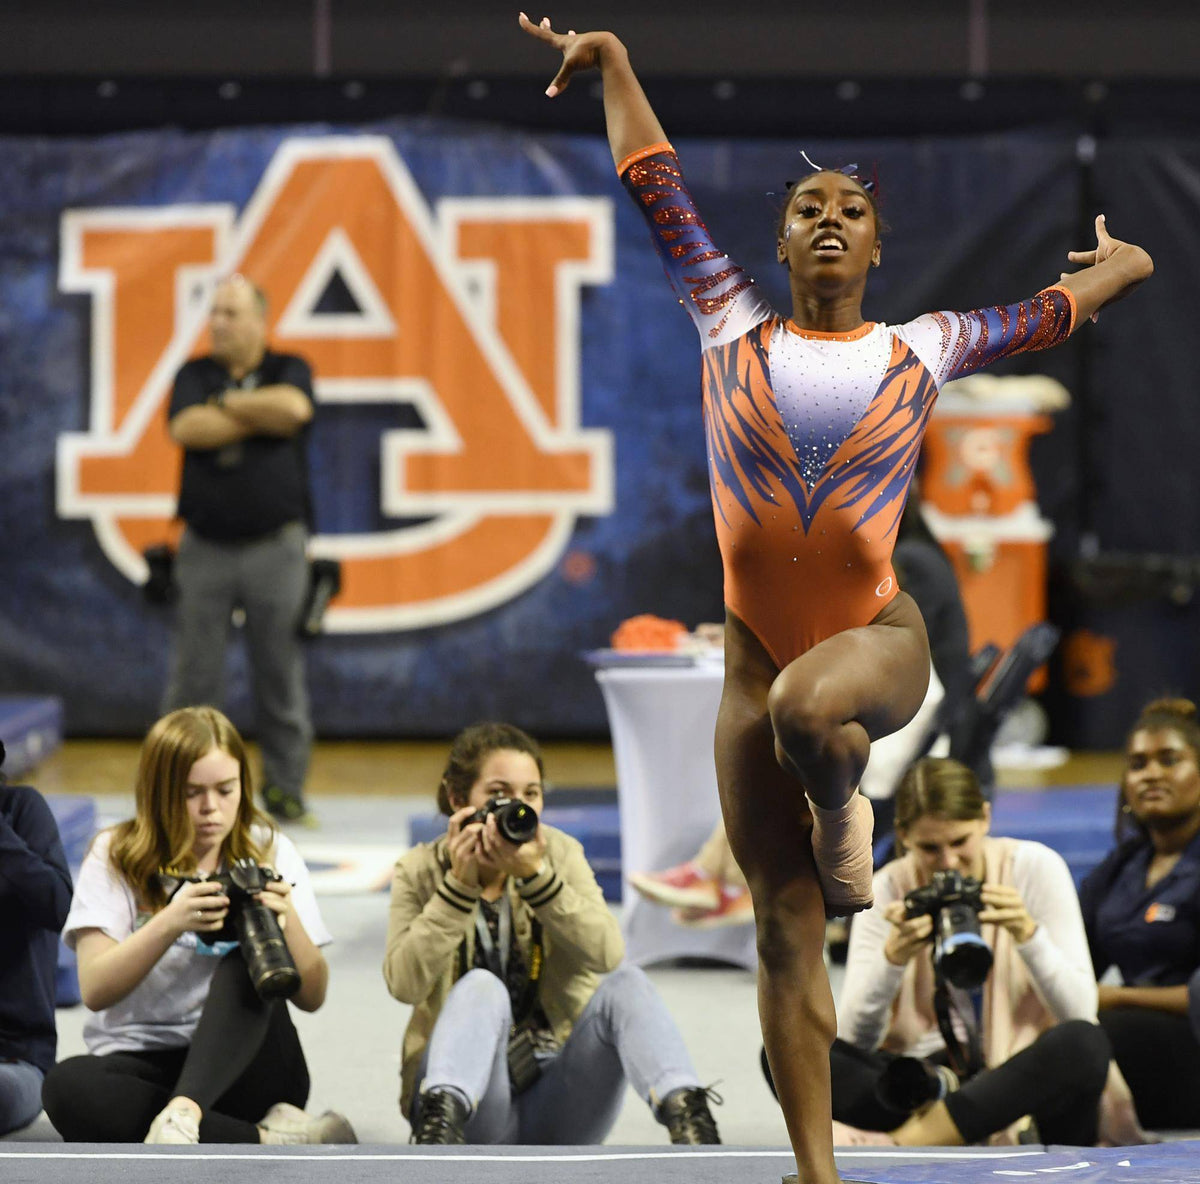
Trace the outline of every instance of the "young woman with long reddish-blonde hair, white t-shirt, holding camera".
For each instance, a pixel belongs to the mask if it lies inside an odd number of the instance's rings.
[[[258,864],[280,878],[264,883]],[[182,708],[150,729],[137,813],[92,842],[64,937],[95,1012],[88,1054],[42,1090],[65,1140],[354,1142],[341,1116],[301,1108],[308,1069],[284,996],[322,1005],[331,938],[220,711]]]

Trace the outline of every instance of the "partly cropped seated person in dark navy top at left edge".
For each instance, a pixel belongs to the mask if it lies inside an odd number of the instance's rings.
[[[70,907],[71,872],[50,807],[36,789],[0,775],[0,1135],[28,1126],[42,1108],[58,1040],[59,930]]]

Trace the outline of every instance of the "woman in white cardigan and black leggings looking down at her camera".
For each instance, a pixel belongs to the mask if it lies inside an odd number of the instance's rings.
[[[1042,1142],[1097,1140],[1109,1044],[1070,872],[1040,843],[990,837],[990,818],[956,761],[926,757],[900,783],[907,854],[851,931],[836,1143],[1006,1142],[1026,1117]]]

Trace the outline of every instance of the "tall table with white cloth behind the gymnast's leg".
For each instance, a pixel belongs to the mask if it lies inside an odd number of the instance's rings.
[[[701,957],[754,969],[754,925],[677,925],[671,909],[629,885],[630,872],[658,872],[691,859],[720,818],[713,733],[724,663],[683,656],[606,660],[602,653],[589,660],[600,667],[596,681],[617,764],[626,957],[637,966]]]

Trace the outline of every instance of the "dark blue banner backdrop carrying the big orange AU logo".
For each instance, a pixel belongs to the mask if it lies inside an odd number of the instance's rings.
[[[718,242],[779,302],[774,221],[803,166],[799,146],[677,144]],[[820,162],[878,168],[890,232],[871,318],[1027,296],[1082,245],[1075,142],[1061,128],[803,148]],[[310,176],[330,161],[343,172]],[[0,192],[0,690],[61,695],[77,734],[137,734],[154,719],[169,613],[144,603],[137,579],[140,546],[170,516],[164,398],[174,367],[203,347],[205,281],[238,268],[269,281],[278,348],[314,362],[318,549],[354,567],[336,632],[308,651],[320,734],[438,734],[485,716],[541,735],[600,733],[581,650],[638,612],[689,625],[719,618],[698,343],[602,140],[397,120],[7,138],[0,162],[10,180]],[[395,217],[359,209],[379,178]],[[340,227],[329,210],[343,208]],[[1141,229],[1136,194],[1106,212],[1117,234]],[[553,283],[551,272],[521,271],[533,240],[510,232],[522,220],[550,235]],[[268,241],[272,227],[283,238]],[[389,270],[374,257],[371,242],[396,235],[425,252],[438,290],[404,292],[408,264]],[[137,266],[131,244],[143,252]],[[550,295],[539,302],[539,293]],[[443,312],[422,320],[431,303]],[[432,353],[404,373],[397,359],[421,333]],[[372,369],[379,342],[386,363]],[[1012,368],[1072,387],[1080,348]],[[478,373],[468,362],[446,368],[446,355],[464,353],[478,355]],[[1105,355],[1106,383],[1120,385],[1126,353]],[[442,497],[436,475],[421,486],[427,445],[436,452],[457,434],[488,457],[490,405],[500,425],[491,453],[523,457],[512,488],[497,477],[474,500],[455,500],[461,489]],[[1067,537],[1078,435],[1068,419],[1036,457],[1043,510]],[[539,457],[563,451],[571,456],[539,476]],[[437,548],[439,530],[457,531],[451,554],[468,554],[470,515],[486,527],[517,513],[536,518],[541,541],[509,569],[426,569],[414,558]],[[509,546],[502,534],[497,546]],[[479,537],[486,549],[491,536]],[[384,563],[376,552],[388,548]],[[229,705],[250,722],[240,647]]]

